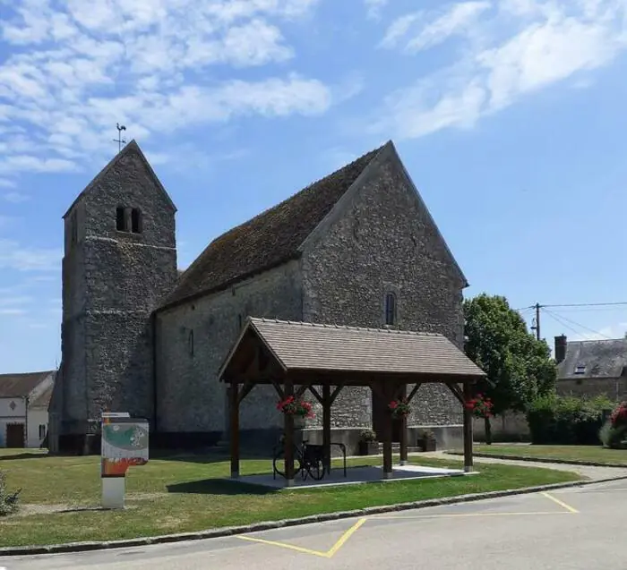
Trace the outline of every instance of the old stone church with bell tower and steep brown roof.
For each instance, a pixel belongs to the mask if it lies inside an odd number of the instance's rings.
[[[65,213],[51,450],[97,448],[105,410],[147,418],[159,447],[228,438],[217,372],[248,316],[435,332],[463,344],[467,280],[391,141],[220,235],[185,271],[175,218],[135,141]],[[246,398],[242,438],[276,441],[276,402],[268,387]],[[412,405],[410,427],[444,445],[459,440],[461,406],[445,386],[421,387]],[[376,429],[376,407],[369,388],[346,388],[333,405],[333,440],[352,446]]]

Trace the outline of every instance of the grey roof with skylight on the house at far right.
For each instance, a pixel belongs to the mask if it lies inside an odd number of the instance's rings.
[[[585,367],[577,374],[577,367]],[[627,366],[627,338],[568,341],[558,379],[618,378]]]

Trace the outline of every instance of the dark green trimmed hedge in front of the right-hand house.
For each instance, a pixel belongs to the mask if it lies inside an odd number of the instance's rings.
[[[599,431],[615,403],[606,396],[543,396],[528,407],[531,442],[540,445],[602,445]]]

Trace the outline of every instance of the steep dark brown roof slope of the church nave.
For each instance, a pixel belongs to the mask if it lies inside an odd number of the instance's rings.
[[[366,153],[210,242],[179,276],[164,307],[197,294],[219,291],[295,258],[300,245],[382,148]]]

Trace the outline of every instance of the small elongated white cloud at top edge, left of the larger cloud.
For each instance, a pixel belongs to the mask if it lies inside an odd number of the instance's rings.
[[[393,21],[382,40],[382,47],[396,47],[404,38],[404,51],[416,53],[441,44],[454,35],[468,34],[477,18],[490,9],[490,2],[462,2],[443,10],[409,13]]]

